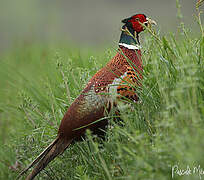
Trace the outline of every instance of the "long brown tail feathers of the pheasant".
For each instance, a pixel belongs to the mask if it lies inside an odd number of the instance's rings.
[[[18,178],[38,163],[31,174],[26,178],[26,180],[32,180],[50,161],[52,161],[57,155],[63,153],[71,142],[72,140],[57,137],[26,169],[19,174]]]

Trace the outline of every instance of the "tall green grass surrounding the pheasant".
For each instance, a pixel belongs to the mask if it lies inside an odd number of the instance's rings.
[[[172,179],[173,165],[204,169],[204,38],[192,33],[159,41],[145,33],[142,103],[123,111],[124,127],[110,118],[106,141],[88,133],[36,179]],[[24,45],[1,56],[0,179],[14,179],[55,138],[67,108],[115,52]]]

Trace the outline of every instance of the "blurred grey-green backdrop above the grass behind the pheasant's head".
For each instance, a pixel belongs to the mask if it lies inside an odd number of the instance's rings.
[[[181,0],[185,24],[195,24],[196,0]],[[176,31],[174,0],[1,0],[0,52],[19,42],[72,42],[103,46],[115,43],[120,21],[144,13],[158,22],[162,33]]]

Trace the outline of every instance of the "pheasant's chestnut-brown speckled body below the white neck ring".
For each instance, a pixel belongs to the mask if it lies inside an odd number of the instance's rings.
[[[136,52],[122,46],[120,48],[122,52],[119,50],[116,56],[92,77],[81,95],[72,103],[62,119],[58,132],[60,136],[69,137],[74,140],[83,135],[87,128],[93,132],[97,127],[104,129],[108,123],[107,120],[102,120],[92,125],[89,124],[103,118],[105,112],[110,111],[117,98],[114,97],[116,93],[124,95],[128,92],[125,88],[122,90],[122,87],[125,85],[118,86],[121,79],[128,79],[129,74],[127,72],[131,70],[132,73],[138,72],[139,78],[142,79],[140,50]],[[132,67],[130,65],[131,62],[128,62],[127,58],[132,61]],[[137,79],[138,77],[134,78]],[[117,81],[118,83],[115,83]],[[134,80],[131,81],[132,84],[135,84]],[[113,92],[114,90],[115,92]],[[130,95],[135,96],[135,98],[131,99],[137,101],[138,98],[134,90],[132,90]],[[83,128],[84,126],[85,128]]]

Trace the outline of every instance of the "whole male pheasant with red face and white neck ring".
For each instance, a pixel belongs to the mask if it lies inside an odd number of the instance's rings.
[[[102,134],[104,131],[101,129],[108,124],[104,117],[117,106],[117,99],[125,97],[138,101],[134,87],[140,86],[143,71],[138,35],[145,26],[155,22],[144,14],[136,14],[122,20],[122,23],[117,54],[92,77],[71,104],[61,121],[56,139],[20,174],[37,164],[27,180],[33,179],[71,143],[80,140],[86,129],[97,135]],[[101,118],[104,119],[99,120]]]

